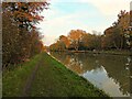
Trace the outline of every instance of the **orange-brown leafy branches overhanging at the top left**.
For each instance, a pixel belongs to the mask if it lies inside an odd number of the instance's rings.
[[[38,21],[43,20],[40,12],[47,9],[48,3],[45,2],[3,2],[3,13],[8,12],[19,28],[32,30]]]

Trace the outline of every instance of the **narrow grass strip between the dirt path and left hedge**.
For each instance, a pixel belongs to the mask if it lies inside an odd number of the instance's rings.
[[[31,75],[35,65],[41,59],[41,54],[33,57],[30,62],[21,64],[11,70],[3,72],[2,75],[2,96],[18,97],[21,96],[23,87],[26,84],[29,75]]]

